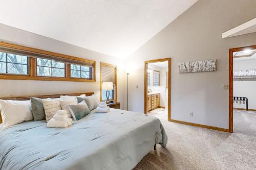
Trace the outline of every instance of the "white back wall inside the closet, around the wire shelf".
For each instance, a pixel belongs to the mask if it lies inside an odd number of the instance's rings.
[[[256,69],[256,59],[254,60],[234,60],[233,70]],[[256,109],[256,81],[234,81],[233,96],[248,98],[248,108]],[[233,104],[234,108],[246,108],[245,104]]]

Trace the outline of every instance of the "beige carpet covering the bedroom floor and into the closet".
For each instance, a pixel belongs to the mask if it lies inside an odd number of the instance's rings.
[[[148,153],[134,169],[256,169],[256,112],[234,110],[234,133],[161,119],[166,148]]]

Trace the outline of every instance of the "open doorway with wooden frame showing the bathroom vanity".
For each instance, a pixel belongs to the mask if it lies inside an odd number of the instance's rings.
[[[144,113],[170,121],[171,59],[145,61]]]

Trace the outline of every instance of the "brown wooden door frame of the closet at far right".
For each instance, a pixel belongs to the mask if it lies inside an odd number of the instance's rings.
[[[238,48],[229,49],[229,104],[228,104],[228,114],[229,114],[229,132],[233,132],[233,52],[240,52],[246,49],[255,50],[256,45],[244,46]]]

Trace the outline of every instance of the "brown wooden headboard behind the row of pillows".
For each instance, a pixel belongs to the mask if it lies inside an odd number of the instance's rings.
[[[27,96],[11,96],[6,98],[1,98],[2,100],[15,100],[15,101],[27,101],[30,100],[31,97],[47,99],[47,98],[60,98],[60,95],[69,95],[69,96],[78,96],[81,94],[86,94],[86,96],[93,95],[94,92],[84,92],[84,93],[70,93],[70,94],[48,94],[48,95],[27,95]],[[2,123],[2,116],[0,112],[0,124]]]

